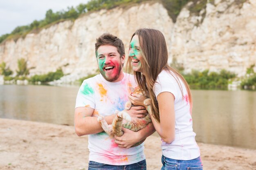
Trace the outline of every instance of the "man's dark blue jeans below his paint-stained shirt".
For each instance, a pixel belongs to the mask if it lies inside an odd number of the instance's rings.
[[[98,163],[89,161],[88,170],[146,170],[147,169],[146,159],[143,161],[133,163],[130,165],[108,165],[104,163]]]

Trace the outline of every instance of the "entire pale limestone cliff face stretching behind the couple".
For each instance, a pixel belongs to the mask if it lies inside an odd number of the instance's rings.
[[[118,36],[128,57],[131,35],[146,27],[162,31],[169,62],[175,58],[186,72],[224,68],[244,75],[246,68],[256,63],[256,0],[243,5],[216,0],[199,15],[192,14],[188,6],[176,23],[159,2],[88,13],[74,22],[60,22],[16,42],[0,44],[0,62],[15,71],[18,59],[25,58],[30,75],[61,67],[66,74],[63,82],[73,82],[97,70],[94,44],[99,35],[109,32]]]

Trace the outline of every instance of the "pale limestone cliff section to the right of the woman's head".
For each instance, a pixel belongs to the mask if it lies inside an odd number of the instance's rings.
[[[202,12],[202,11],[201,11]],[[174,26],[171,55],[192,69],[220,71],[238,76],[256,63],[256,0],[207,4],[205,18],[191,15],[185,7]]]

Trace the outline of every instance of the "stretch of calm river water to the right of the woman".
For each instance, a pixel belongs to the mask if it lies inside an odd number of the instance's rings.
[[[256,92],[192,91],[196,140],[256,149]]]

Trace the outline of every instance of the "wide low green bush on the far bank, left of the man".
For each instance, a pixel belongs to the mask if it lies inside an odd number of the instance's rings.
[[[47,74],[43,75],[34,75],[32,76],[29,81],[30,82],[42,82],[42,83],[47,83],[47,82],[52,82],[54,80],[60,79],[63,77],[63,71],[61,68],[58,68],[55,72],[49,72]]]

